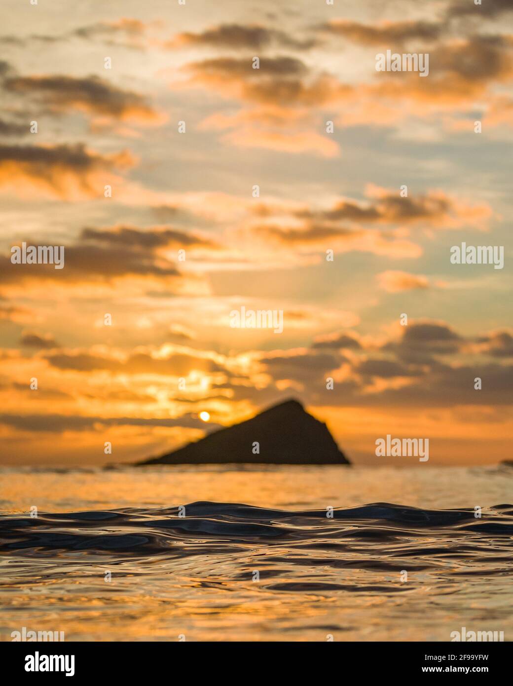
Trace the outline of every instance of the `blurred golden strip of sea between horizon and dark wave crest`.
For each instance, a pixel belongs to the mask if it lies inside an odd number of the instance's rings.
[[[351,507],[392,502],[457,508],[512,500],[512,480],[494,468],[355,466],[154,466],[121,470],[3,471],[0,509],[47,512],[169,507],[194,501],[257,507]],[[513,472],[512,475],[513,476]]]

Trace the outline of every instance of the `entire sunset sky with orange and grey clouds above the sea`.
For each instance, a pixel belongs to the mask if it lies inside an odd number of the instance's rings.
[[[512,8],[4,0],[1,462],[139,460],[289,397],[357,464],[407,460],[386,434],[512,458]],[[429,76],[377,72],[387,49]],[[64,268],[12,264],[22,241]]]

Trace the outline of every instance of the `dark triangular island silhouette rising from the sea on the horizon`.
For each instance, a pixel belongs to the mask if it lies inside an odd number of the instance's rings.
[[[294,399],[146,464],[350,464],[326,424]]]

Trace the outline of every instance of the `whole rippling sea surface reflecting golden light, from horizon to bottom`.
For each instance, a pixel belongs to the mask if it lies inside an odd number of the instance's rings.
[[[4,641],[23,626],[67,641],[450,641],[462,627],[513,638],[508,467],[0,480]]]

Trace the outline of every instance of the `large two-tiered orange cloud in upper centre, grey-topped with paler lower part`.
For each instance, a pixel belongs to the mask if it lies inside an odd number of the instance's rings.
[[[252,69],[251,58],[211,58],[186,64],[183,73],[187,79],[172,87],[207,88],[249,105],[235,114],[214,113],[204,119],[202,128],[231,129],[224,142],[291,154],[339,154],[338,143],[318,132],[325,126],[319,113],[353,89],[329,75],[311,73],[302,60],[264,56],[259,69]]]

